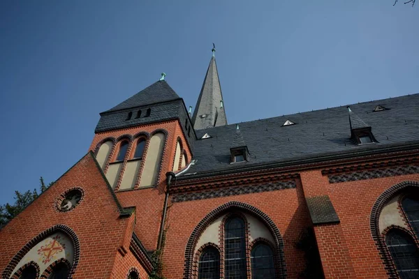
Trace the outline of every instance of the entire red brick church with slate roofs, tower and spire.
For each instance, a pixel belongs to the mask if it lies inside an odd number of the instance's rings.
[[[228,123],[214,54],[193,112],[165,74],[101,112],[1,278],[419,278],[419,94]]]

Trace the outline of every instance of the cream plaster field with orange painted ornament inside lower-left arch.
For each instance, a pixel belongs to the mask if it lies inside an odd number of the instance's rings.
[[[36,262],[38,264],[41,274],[47,269],[50,264],[57,259],[67,259],[73,264],[74,250],[73,242],[66,236],[66,234],[56,233],[48,236],[39,242],[27,252],[22,260],[17,264],[13,270],[14,274],[20,267],[28,262]]]

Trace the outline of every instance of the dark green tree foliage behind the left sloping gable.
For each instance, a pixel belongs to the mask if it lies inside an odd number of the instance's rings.
[[[43,177],[39,179],[39,190],[41,193],[45,192],[48,187],[52,185],[53,182],[45,185],[45,182],[43,181]],[[3,204],[0,205],[0,227],[7,224],[10,220],[15,218],[17,214],[22,212],[31,202],[34,202],[34,200],[41,194],[38,194],[38,191],[36,189],[34,190],[27,190],[24,193],[20,193],[19,191],[15,191],[15,203],[14,204]]]

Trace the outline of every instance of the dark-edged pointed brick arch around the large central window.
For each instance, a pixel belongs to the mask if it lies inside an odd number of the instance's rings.
[[[189,236],[189,240],[186,243],[185,248],[185,263],[184,263],[184,278],[192,278],[192,269],[193,269],[193,251],[195,249],[196,243],[198,243],[198,239],[200,235],[204,232],[206,227],[210,225],[210,223],[231,211],[237,211],[238,213],[249,213],[253,216],[256,216],[262,223],[270,230],[274,238],[274,254],[278,257],[278,276],[279,278],[286,278],[286,264],[284,259],[284,241],[282,239],[281,234],[279,233],[279,229],[277,225],[272,221],[272,219],[267,216],[267,214],[257,209],[255,206],[251,206],[250,204],[246,204],[244,202],[227,202],[221,206],[218,206],[216,209],[212,210],[210,213],[207,214],[200,223],[193,229],[191,236]]]

